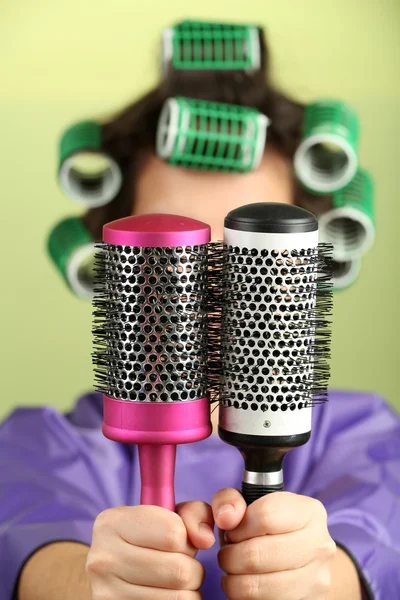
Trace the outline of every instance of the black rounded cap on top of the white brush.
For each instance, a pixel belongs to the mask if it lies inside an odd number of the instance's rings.
[[[278,202],[256,202],[231,210],[225,227],[261,233],[306,233],[318,229],[317,218],[304,208]]]

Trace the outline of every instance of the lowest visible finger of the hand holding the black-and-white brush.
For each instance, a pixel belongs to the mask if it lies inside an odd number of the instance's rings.
[[[322,600],[330,589],[328,566],[315,564],[302,569],[263,575],[224,575],[222,589],[229,600]]]

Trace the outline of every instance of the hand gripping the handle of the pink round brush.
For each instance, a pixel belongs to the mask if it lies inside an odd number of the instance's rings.
[[[204,578],[197,549],[215,542],[211,508],[182,504],[111,508],[93,528],[86,573],[92,600],[199,600]]]

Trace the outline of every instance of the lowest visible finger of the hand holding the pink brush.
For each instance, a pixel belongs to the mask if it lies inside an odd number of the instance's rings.
[[[133,598],[140,598],[140,600],[171,600],[171,598],[178,598],[178,594],[172,596],[171,590],[132,585],[121,580],[114,580],[108,583],[98,579],[92,584],[91,592],[92,600],[100,600],[102,598],[118,598],[118,600],[132,600]],[[180,591],[179,600],[201,600],[201,593],[191,590]]]

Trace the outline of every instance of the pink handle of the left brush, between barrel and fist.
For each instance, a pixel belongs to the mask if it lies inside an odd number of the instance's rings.
[[[151,504],[175,511],[176,446],[140,444],[138,448],[142,480],[140,504]]]

